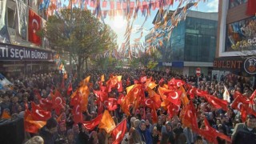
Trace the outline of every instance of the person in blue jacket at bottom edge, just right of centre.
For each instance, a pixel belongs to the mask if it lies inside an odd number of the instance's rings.
[[[150,134],[150,130],[146,129],[146,123],[144,120],[141,121],[138,128],[138,132],[141,135],[143,142],[146,142],[146,144],[151,144],[153,142]]]

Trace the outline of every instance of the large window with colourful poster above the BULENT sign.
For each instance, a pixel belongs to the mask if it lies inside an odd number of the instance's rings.
[[[256,50],[256,17],[226,26],[225,51]]]

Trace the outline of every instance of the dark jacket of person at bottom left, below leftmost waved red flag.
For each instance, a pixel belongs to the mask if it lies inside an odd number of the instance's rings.
[[[42,129],[39,131],[39,135],[42,137],[44,144],[54,144],[55,140],[57,139],[56,134],[51,134],[46,126],[43,126]]]

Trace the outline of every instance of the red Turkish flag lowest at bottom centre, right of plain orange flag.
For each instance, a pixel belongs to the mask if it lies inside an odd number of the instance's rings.
[[[113,144],[118,144],[122,142],[122,138],[126,134],[126,129],[127,129],[127,121],[125,118],[112,131],[112,138],[114,138]]]

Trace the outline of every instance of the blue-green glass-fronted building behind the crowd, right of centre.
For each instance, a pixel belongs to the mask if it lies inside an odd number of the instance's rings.
[[[170,13],[173,14],[173,12]],[[183,75],[211,73],[215,57],[218,13],[189,10],[186,19],[174,27],[170,40],[159,48],[162,58],[159,66]]]

